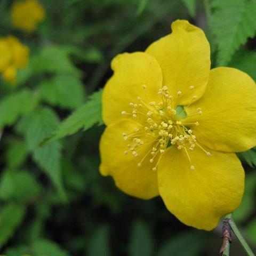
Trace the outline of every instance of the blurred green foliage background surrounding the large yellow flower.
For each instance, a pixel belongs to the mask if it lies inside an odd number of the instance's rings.
[[[212,67],[256,79],[255,13],[253,0],[1,0],[0,254],[218,255],[221,223],[187,227],[161,198],[101,177],[101,88],[117,53],[144,51],[176,19],[204,29]],[[246,189],[234,219],[256,252],[256,150],[238,155]],[[230,255],[246,255],[235,237]]]

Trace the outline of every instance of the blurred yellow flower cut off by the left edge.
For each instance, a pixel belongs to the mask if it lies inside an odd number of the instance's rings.
[[[29,49],[14,36],[0,38],[0,72],[5,81],[15,83],[17,70],[28,63]]]

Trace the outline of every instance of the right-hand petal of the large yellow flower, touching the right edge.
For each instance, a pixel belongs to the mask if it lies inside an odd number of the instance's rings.
[[[250,76],[234,68],[210,72],[204,96],[185,108],[186,123],[198,121],[194,134],[203,145],[218,151],[239,152],[256,145],[256,85]],[[196,114],[202,108],[202,115]]]

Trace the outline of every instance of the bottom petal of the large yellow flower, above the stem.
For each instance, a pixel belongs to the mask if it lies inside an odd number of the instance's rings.
[[[159,194],[167,209],[186,225],[205,230],[233,212],[244,191],[244,170],[237,156],[211,153],[207,156],[198,147],[191,151],[191,170],[183,150],[170,147],[158,167]]]

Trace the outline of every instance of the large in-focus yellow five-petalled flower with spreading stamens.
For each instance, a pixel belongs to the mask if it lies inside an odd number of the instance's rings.
[[[243,195],[234,152],[256,145],[254,81],[234,68],[210,70],[209,43],[185,20],[145,52],[117,55],[111,68],[101,174],[129,195],[160,195],[188,226],[213,229]]]

